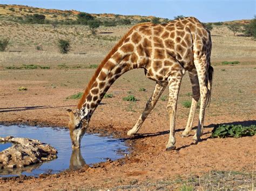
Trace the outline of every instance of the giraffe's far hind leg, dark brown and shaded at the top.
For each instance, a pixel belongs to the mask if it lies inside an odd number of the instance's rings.
[[[200,98],[200,87],[199,87],[199,81],[197,76],[197,70],[194,68],[192,71],[188,71],[188,74],[190,76],[190,81],[192,84],[192,103],[190,108],[190,114],[188,115],[187,125],[183,133],[181,134],[181,137],[188,137],[194,120],[194,114],[196,113],[197,103]]]

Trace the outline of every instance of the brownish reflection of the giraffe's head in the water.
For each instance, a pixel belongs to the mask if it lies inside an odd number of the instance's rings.
[[[81,155],[80,149],[73,149],[70,157],[69,169],[75,170],[83,167],[84,165],[86,165],[86,163],[83,156]]]

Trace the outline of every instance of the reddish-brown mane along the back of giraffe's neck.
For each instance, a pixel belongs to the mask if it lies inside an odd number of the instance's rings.
[[[151,23],[139,23],[137,25],[132,26],[132,28],[119,40],[119,42],[114,45],[114,47],[111,49],[111,51],[107,54],[107,56],[102,60],[100,65],[97,67],[95,74],[92,76],[91,80],[89,81],[88,85],[86,86],[84,93],[82,95],[82,98],[78,101],[77,108],[80,110],[84,104],[84,101],[89,94],[92,84],[95,82],[96,78],[98,77],[100,71],[102,71],[103,66],[106,64],[107,60],[111,58],[111,56],[117,51],[118,47],[121,46],[124,42],[124,40],[131,35],[132,31],[136,29],[138,26],[146,25],[146,24],[151,24]]]

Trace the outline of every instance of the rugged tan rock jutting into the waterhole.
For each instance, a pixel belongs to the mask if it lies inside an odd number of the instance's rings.
[[[13,146],[0,152],[0,169],[23,168],[57,158],[57,150],[35,139],[1,138],[0,142],[12,142]],[[1,173],[0,173],[1,174]]]

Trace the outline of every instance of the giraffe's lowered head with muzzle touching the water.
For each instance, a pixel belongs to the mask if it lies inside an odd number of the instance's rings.
[[[81,139],[84,136],[89,121],[82,121],[77,112],[73,113],[70,109],[68,109],[67,111],[70,116],[69,134],[72,142],[72,148],[79,148]]]

